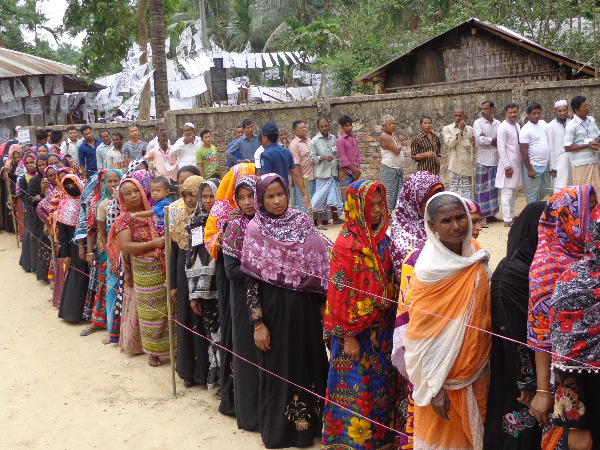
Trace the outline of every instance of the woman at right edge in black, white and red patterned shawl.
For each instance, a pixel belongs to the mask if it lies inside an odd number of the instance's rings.
[[[600,209],[590,215],[583,259],[556,282],[550,310],[556,396],[552,423],[563,448],[600,448]]]

